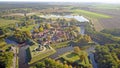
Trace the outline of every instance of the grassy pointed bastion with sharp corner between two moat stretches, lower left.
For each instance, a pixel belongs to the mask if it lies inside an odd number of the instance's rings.
[[[36,47],[38,47],[38,46],[36,46],[36,45],[35,46],[30,46],[30,52],[31,52],[32,59],[29,62],[29,64],[33,64],[35,62],[38,62],[39,60],[41,60],[43,58],[46,58],[46,57],[48,57],[48,56],[50,56],[50,55],[52,55],[56,52],[53,49],[46,49],[43,52],[32,52],[32,50]]]

